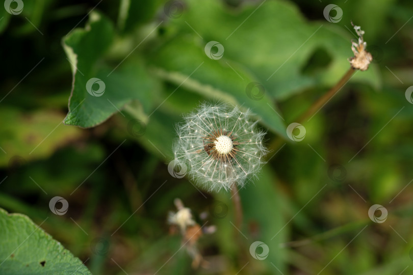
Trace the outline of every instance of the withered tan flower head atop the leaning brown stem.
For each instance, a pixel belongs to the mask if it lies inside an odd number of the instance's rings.
[[[354,57],[349,59],[351,66],[354,69],[365,71],[369,68],[369,64],[373,61],[373,57],[370,52],[366,51],[367,43],[363,40],[364,31],[360,29],[360,26],[356,26],[351,22],[358,35],[358,41],[351,41],[351,50],[354,53]]]

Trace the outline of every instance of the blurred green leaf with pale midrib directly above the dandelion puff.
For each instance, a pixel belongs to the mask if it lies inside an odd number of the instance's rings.
[[[270,96],[260,93],[253,85],[257,79],[236,62],[226,58],[210,59],[198,39],[188,35],[177,36],[154,49],[151,61],[159,77],[211,100],[219,99],[250,108],[265,126],[286,136],[285,126],[275,112],[277,108]]]

